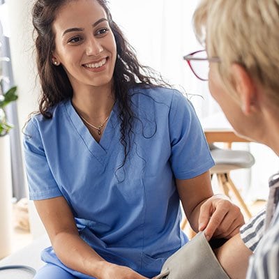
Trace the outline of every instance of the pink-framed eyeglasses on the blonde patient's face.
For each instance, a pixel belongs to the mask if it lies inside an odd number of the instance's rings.
[[[209,62],[220,63],[219,57],[207,57],[205,50],[198,50],[197,52],[190,53],[183,56],[183,59],[187,61],[193,74],[199,80],[209,80]]]

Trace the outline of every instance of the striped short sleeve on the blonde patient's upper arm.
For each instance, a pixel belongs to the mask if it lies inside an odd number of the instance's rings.
[[[240,229],[241,239],[245,245],[254,252],[259,241],[264,235],[264,219],[266,217],[266,210],[259,211],[257,215],[251,218],[248,223],[243,225]]]

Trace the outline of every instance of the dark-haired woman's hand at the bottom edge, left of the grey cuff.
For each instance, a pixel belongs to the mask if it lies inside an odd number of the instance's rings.
[[[147,279],[127,266],[119,266],[106,262],[101,279]]]

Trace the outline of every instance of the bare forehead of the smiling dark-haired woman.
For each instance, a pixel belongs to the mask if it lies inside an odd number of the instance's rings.
[[[53,28],[55,33],[63,32],[68,28],[86,27],[100,18],[107,18],[105,10],[96,0],[67,1],[57,11]]]

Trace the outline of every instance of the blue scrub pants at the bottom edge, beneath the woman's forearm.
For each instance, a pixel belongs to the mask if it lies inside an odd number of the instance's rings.
[[[77,279],[77,277],[68,273],[64,269],[54,264],[45,264],[38,270],[36,276],[33,279]]]

